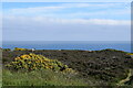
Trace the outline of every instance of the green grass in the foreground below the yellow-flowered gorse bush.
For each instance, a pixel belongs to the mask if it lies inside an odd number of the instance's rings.
[[[33,70],[30,73],[3,69],[3,86],[86,86],[82,79],[70,74],[52,70]]]

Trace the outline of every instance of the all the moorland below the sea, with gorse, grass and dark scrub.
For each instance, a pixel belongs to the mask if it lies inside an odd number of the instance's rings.
[[[2,85],[132,88],[132,55],[116,50],[2,48]]]

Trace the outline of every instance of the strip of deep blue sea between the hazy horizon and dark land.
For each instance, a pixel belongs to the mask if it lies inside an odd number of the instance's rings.
[[[119,50],[131,53],[130,41],[4,41],[2,48],[35,48],[35,50],[80,50],[100,51]]]

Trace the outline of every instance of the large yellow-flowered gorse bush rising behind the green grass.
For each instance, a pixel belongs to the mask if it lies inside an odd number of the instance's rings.
[[[32,53],[16,57],[13,62],[6,66],[14,70],[52,69],[54,72],[74,73],[73,69],[57,59],[49,59],[42,55],[35,55]]]

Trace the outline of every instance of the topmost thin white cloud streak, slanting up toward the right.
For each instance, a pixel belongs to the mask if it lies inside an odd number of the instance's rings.
[[[124,4],[124,6],[123,6]],[[10,12],[47,12],[47,11],[57,11],[62,9],[69,9],[69,8],[115,8],[115,7],[125,7],[125,4],[129,3],[62,3],[60,6],[55,7],[34,7],[34,8],[19,8],[19,9],[10,9]]]

